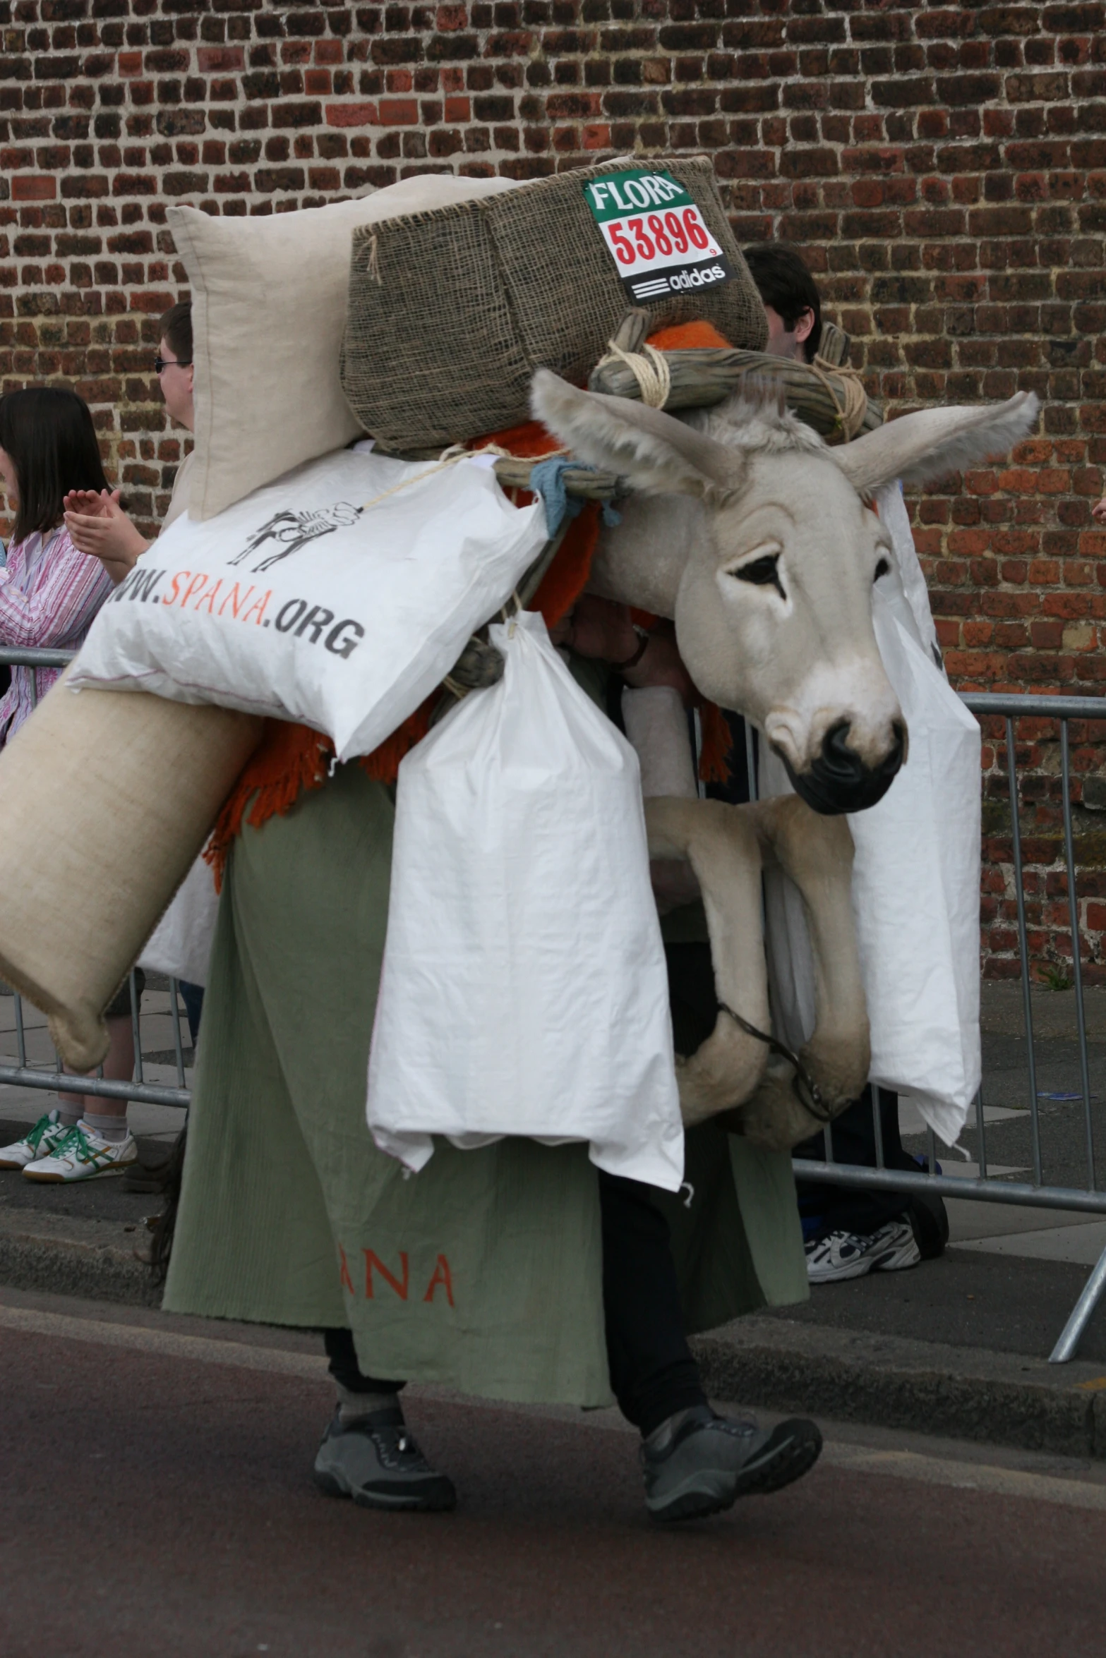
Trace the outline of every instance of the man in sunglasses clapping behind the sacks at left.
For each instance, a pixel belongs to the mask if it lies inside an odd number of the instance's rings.
[[[177,426],[194,431],[192,307],[186,302],[167,310],[161,318],[159,335],[161,345],[154,358],[154,370],[161,395],[166,400],[166,410]],[[187,474],[191,464],[192,456],[186,454],[172,482],[172,496],[163,529],[187,507]],[[101,489],[99,494],[86,489],[73,489],[63,504],[65,524],[73,545],[90,557],[99,559],[116,584],[133,569],[134,560],[153,545],[119,506],[118,489]]]

